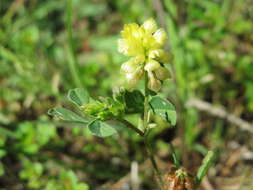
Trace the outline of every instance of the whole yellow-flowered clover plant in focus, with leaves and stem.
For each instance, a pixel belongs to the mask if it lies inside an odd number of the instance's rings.
[[[172,144],[169,144],[169,147],[176,169],[169,178],[166,178],[160,172],[148,142],[148,135],[154,128],[154,124],[150,121],[151,114],[161,117],[172,126],[177,120],[173,104],[158,94],[163,81],[170,77],[166,65],[172,62],[172,55],[164,49],[167,41],[166,32],[157,27],[154,19],[148,19],[141,26],[126,24],[121,36],[122,38],[118,40],[118,50],[130,57],[122,64],[121,72],[125,75],[130,88],[121,87],[113,93],[113,97],[98,99],[90,97],[85,89],[72,89],[68,92],[68,99],[77,106],[81,115],[63,107],[50,109],[48,113],[65,121],[87,125],[88,130],[99,137],[113,135],[125,128],[133,130],[143,137],[160,189],[196,189],[213,163],[213,152],[208,152],[196,177],[189,182],[190,175],[183,169]],[[144,80],[144,86],[137,89],[140,80]],[[135,126],[126,120],[129,114],[139,114],[142,125]],[[170,185],[166,186],[166,183]]]

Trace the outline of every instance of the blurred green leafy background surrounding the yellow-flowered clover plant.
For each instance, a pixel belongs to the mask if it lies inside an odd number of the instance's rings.
[[[122,85],[120,30],[150,17],[169,34],[174,72],[162,93],[179,115],[175,128],[157,121],[151,138],[158,159],[171,164],[173,142],[194,173],[215,149],[216,166],[201,188],[253,189],[253,127],[186,106],[197,98],[253,121],[252,0],[0,0],[1,190],[123,189],[133,161],[145,168],[139,189],[155,189],[136,134],[101,139],[46,114],[71,108],[71,88],[106,96]]]

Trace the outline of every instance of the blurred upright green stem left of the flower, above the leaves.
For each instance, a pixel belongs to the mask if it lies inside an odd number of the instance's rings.
[[[67,26],[67,32],[68,32],[68,47],[67,47],[68,48],[68,66],[69,66],[71,77],[74,80],[75,86],[81,87],[82,82],[81,82],[81,79],[79,78],[79,73],[77,69],[77,60],[76,60],[74,48],[73,48],[72,15],[73,15],[72,0],[67,0],[66,26]]]

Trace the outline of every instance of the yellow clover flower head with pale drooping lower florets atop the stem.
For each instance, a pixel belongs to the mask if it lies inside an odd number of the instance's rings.
[[[148,88],[159,91],[161,81],[170,77],[164,67],[171,61],[171,55],[163,47],[167,39],[164,29],[157,28],[154,19],[138,24],[125,24],[118,40],[118,51],[131,58],[122,64],[121,71],[127,82],[135,86],[145,72],[148,74]]]

